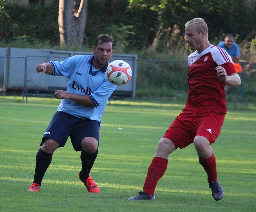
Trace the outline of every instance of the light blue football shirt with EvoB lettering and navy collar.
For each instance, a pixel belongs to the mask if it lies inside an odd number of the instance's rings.
[[[108,98],[116,89],[116,85],[108,81],[106,75],[107,63],[102,69],[93,65],[93,55],[75,55],[65,61],[50,61],[53,67],[52,75],[68,77],[67,92],[78,95],[90,95],[95,104],[85,106],[69,99],[62,99],[57,111],[63,111],[78,118],[99,121],[106,107]]]

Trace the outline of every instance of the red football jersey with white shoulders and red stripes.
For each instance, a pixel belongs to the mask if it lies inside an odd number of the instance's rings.
[[[225,83],[217,77],[215,69],[219,65],[227,75],[236,73],[231,56],[223,48],[210,45],[201,53],[195,51],[188,56],[189,91],[183,112],[227,112]]]

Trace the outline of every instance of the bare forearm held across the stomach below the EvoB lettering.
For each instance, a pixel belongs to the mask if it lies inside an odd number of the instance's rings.
[[[62,90],[57,90],[54,92],[53,96],[57,99],[69,99],[81,105],[95,107],[95,104],[93,103],[89,95],[78,95],[74,93],[68,93]]]

